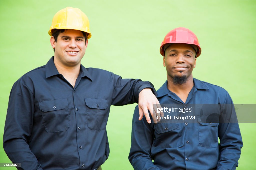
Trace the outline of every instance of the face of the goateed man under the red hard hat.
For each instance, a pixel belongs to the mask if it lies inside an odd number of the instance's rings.
[[[189,44],[174,43],[165,50],[164,66],[168,80],[175,77],[192,78],[192,71],[196,67],[196,51]]]

